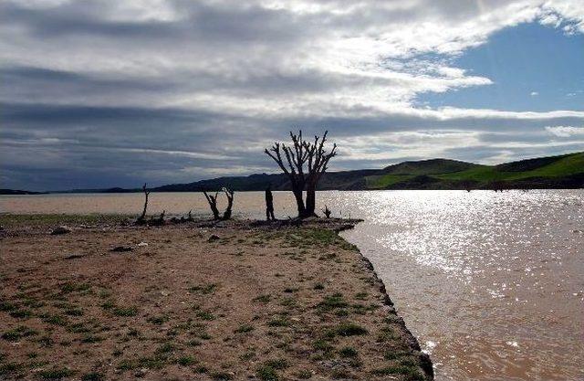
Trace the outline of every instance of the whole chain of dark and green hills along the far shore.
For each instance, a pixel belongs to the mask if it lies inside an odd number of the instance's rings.
[[[162,185],[151,190],[153,192],[198,192],[218,190],[226,186],[235,191],[258,191],[266,189],[267,185],[271,185],[274,190],[290,189],[287,176],[284,174],[255,174],[217,177],[188,184]],[[584,152],[498,165],[473,164],[450,159],[408,161],[382,169],[330,172],[323,175],[318,183],[319,190],[581,187],[584,187]],[[141,192],[141,189],[109,188],[69,192],[123,193]]]

